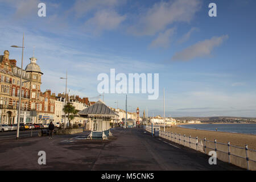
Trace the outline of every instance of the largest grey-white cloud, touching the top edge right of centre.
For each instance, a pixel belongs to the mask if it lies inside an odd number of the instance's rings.
[[[140,14],[138,22],[129,28],[134,35],[155,35],[174,22],[189,22],[200,9],[199,0],[159,2]]]

